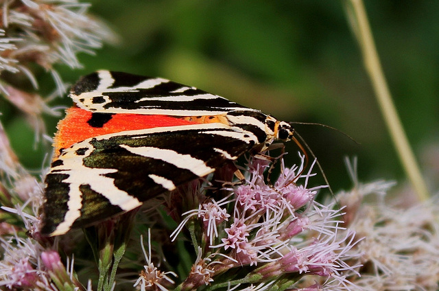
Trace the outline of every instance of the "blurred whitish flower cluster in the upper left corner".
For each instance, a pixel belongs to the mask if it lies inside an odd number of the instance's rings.
[[[55,64],[81,67],[77,54],[93,54],[112,37],[103,23],[87,14],[88,3],[75,0],[1,1],[0,73],[23,73],[37,87],[29,65],[50,71],[58,91],[64,91]],[[1,80],[5,90],[5,80]]]

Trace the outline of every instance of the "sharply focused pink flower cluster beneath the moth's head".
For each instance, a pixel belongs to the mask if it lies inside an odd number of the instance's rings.
[[[288,169],[281,164],[281,176],[274,185],[263,176],[270,164],[253,159],[246,182],[227,187],[231,194],[219,201],[204,196],[203,191],[182,193],[196,197],[188,200],[200,202],[197,209],[182,213],[185,218],[174,231],[174,240],[189,222],[200,229],[200,235],[195,233],[192,239],[197,240],[193,242],[199,246],[197,260],[203,262],[211,285],[227,281],[230,290],[238,286],[246,287],[237,290],[247,290],[255,283],[263,288],[285,280],[290,288],[312,288],[315,280],[304,282],[317,275],[340,290],[351,290],[354,286],[346,277],[357,275],[357,265],[345,261],[358,256],[352,252],[355,234],[347,231],[344,237],[337,236],[344,230],[340,226],[342,213],[313,200],[322,187],[307,187],[313,176],[310,172],[300,174],[302,166]],[[301,180],[305,185],[298,185]],[[237,279],[234,274],[239,270],[244,273]],[[204,285],[205,277],[200,278],[191,272],[181,290]]]

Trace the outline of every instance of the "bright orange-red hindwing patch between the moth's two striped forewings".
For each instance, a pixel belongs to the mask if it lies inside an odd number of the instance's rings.
[[[71,107],[66,110],[66,117],[58,122],[58,132],[54,138],[55,156],[60,154],[60,149],[69,148],[73,143],[78,143],[84,139],[107,135],[110,133],[126,130],[140,130],[145,128],[156,128],[164,126],[182,126],[194,124],[167,115],[141,115],[119,113],[112,115],[102,128],[90,126],[87,121],[91,119],[91,112],[79,107]]]

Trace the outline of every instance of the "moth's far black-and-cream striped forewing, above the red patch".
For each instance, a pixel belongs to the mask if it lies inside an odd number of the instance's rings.
[[[230,111],[259,111],[163,78],[97,71],[73,85],[70,97],[91,112],[209,116]]]

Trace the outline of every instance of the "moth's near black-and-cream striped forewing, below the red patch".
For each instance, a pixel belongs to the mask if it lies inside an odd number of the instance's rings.
[[[222,124],[150,128],[75,143],[47,174],[43,227],[60,235],[129,211],[248,152],[257,137]]]

